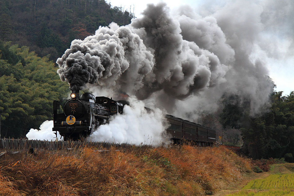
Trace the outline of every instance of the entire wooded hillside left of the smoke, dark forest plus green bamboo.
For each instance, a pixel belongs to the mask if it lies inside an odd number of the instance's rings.
[[[52,119],[53,100],[69,92],[54,63],[72,40],[134,17],[130,7],[104,0],[0,0],[0,5],[1,137],[24,137]]]

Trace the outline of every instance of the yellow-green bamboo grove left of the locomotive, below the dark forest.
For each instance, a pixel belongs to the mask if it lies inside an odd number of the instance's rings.
[[[2,137],[23,137],[30,128],[52,120],[53,100],[64,98],[67,92],[68,84],[60,81],[47,57],[0,41]]]

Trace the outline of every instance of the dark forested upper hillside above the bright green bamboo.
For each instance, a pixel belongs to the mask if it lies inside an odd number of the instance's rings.
[[[131,7],[105,0],[0,0],[0,38],[56,59],[73,39],[83,39],[112,21],[129,24]]]

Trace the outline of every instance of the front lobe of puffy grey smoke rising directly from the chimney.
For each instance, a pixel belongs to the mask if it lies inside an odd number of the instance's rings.
[[[133,82],[138,88],[142,76],[153,68],[153,55],[138,35],[127,27],[110,26],[99,28],[84,41],[72,41],[71,48],[57,59],[60,67],[57,72],[62,81],[70,84],[71,90],[80,90],[87,83],[115,86],[129,72],[137,73]]]

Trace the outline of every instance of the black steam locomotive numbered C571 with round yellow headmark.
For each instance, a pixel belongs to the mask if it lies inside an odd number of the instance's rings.
[[[125,101],[121,101],[125,103]],[[110,115],[122,114],[123,103],[93,94],[71,93],[71,99],[53,101],[53,128],[64,140],[79,140],[91,135]]]

